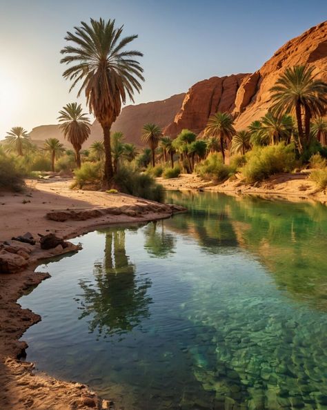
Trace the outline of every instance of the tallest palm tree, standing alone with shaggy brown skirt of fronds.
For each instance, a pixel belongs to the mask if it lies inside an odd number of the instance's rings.
[[[115,27],[115,20],[90,20],[75,27],[75,33],[67,32],[65,39],[70,42],[61,50],[65,55],[61,63],[70,67],[63,77],[72,81],[74,88],[81,81],[78,95],[84,90],[86,101],[103,130],[106,153],[104,178],[111,184],[113,170],[110,147],[110,128],[117,119],[121,104],[129,97],[134,102],[135,90],[141,90],[144,81],[143,69],[135,57],[143,54],[135,50],[125,50],[137,35],[121,38],[123,26]]]

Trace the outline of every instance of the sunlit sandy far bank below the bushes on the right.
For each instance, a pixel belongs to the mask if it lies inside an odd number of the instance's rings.
[[[264,182],[253,185],[246,184],[237,175],[234,179],[222,183],[213,184],[204,181],[197,175],[181,174],[179,178],[163,179],[157,178],[158,182],[166,189],[190,190],[201,189],[205,191],[216,191],[228,195],[258,195],[261,197],[284,198],[290,201],[310,200],[327,203],[326,191],[317,188],[315,182],[308,179],[309,173],[277,174]]]

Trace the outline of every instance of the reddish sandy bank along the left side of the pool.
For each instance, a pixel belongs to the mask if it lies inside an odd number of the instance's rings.
[[[35,238],[38,233],[70,238],[101,226],[147,222],[170,217],[172,213],[169,206],[130,195],[71,191],[71,181],[29,181],[27,184],[24,193],[0,193],[0,245],[27,231]],[[54,219],[66,220],[49,219],[47,213]],[[43,251],[37,244],[32,247],[27,269],[0,273],[1,410],[116,409],[113,403],[101,400],[88,387],[34,374],[33,364],[20,360],[27,345],[19,339],[41,318],[28,309],[21,309],[17,299],[49,277],[46,273],[34,273],[39,260],[62,252],[62,248]]]

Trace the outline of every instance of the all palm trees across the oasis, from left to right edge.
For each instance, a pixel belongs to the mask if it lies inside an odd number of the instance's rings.
[[[121,37],[122,32],[123,26],[115,26],[115,20],[82,21],[74,32],[67,32],[65,39],[68,45],[61,50],[61,64],[67,66],[63,77],[71,82],[70,90],[79,85],[77,95],[85,94],[90,113],[95,115],[103,130],[103,145],[97,141],[92,149],[98,157],[104,156],[106,186],[112,184],[123,151],[126,153],[130,150],[130,157],[135,156],[135,147],[125,144],[122,148],[121,137],[110,137],[110,129],[122,104],[126,103],[127,98],[134,102],[134,94],[141,90],[141,81],[144,81],[143,68],[138,61],[142,53],[126,50],[137,35]],[[145,124],[141,139],[150,147],[152,166],[155,166],[155,151],[159,144],[166,162],[170,157],[173,167],[177,153],[181,162],[188,164],[190,172],[195,161],[200,161],[208,153],[220,150],[225,159],[226,148],[230,148],[231,153],[244,154],[258,144],[276,144],[281,140],[289,142],[293,139],[299,151],[303,152],[313,133],[321,144],[326,144],[327,126],[323,117],[327,106],[327,84],[316,78],[313,67],[286,69],[271,92],[272,109],[259,121],[252,122],[247,130],[237,132],[229,113],[216,113],[210,117],[203,135],[182,130],[175,140],[164,136],[156,124]],[[67,104],[59,114],[61,130],[74,147],[76,163],[80,166],[81,146],[90,135],[90,121],[77,103]],[[295,114],[296,121],[290,117],[292,114]],[[26,130],[13,128],[7,140],[22,155],[24,144],[28,144]],[[59,141],[51,140],[47,143],[48,149],[52,149],[52,158],[55,159],[62,147],[58,145]]]

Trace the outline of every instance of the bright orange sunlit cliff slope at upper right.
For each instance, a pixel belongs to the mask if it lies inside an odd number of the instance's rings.
[[[255,73],[245,77],[237,90],[233,115],[236,128],[246,128],[272,105],[270,88],[288,67],[315,66],[318,77],[327,80],[327,21],[288,41]]]

